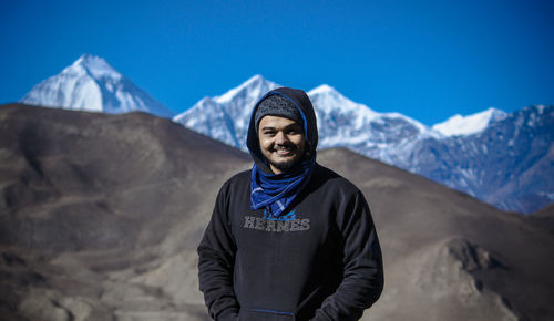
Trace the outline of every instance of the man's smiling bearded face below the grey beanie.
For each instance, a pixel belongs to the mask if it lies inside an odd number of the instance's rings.
[[[259,148],[275,174],[290,169],[302,158],[306,139],[295,121],[264,116],[258,128]]]

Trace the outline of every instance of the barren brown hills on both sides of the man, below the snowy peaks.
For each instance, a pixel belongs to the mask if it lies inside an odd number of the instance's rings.
[[[196,247],[250,162],[145,113],[0,105],[0,319],[209,320]],[[553,206],[501,211],[346,148],[318,162],[365,194],[381,241],[362,320],[554,318]]]

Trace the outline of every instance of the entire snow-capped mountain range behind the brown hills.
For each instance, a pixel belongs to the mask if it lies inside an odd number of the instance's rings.
[[[263,94],[277,86],[255,75],[219,96],[202,99],[173,121],[246,151],[252,108]],[[552,105],[529,106],[510,114],[489,108],[427,126],[399,113],[378,113],[326,84],[308,95],[316,108],[321,149],[347,147],[504,210],[532,213],[554,199]],[[21,102],[171,116],[103,59],[86,54],[59,75],[41,82]]]

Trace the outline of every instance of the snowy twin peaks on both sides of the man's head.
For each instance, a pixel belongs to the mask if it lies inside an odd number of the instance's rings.
[[[204,97],[191,110],[175,116],[174,121],[246,151],[245,137],[252,110],[267,91],[278,86],[261,75],[255,75],[220,96]],[[377,113],[350,101],[329,85],[320,85],[309,91],[308,95],[316,110],[320,148],[348,146],[392,163],[414,139],[440,135],[401,114]]]

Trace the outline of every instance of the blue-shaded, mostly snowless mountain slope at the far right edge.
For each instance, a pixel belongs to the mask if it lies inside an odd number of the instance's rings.
[[[497,208],[532,213],[554,200],[552,151],[554,106],[529,106],[473,135],[420,141],[397,166]]]

